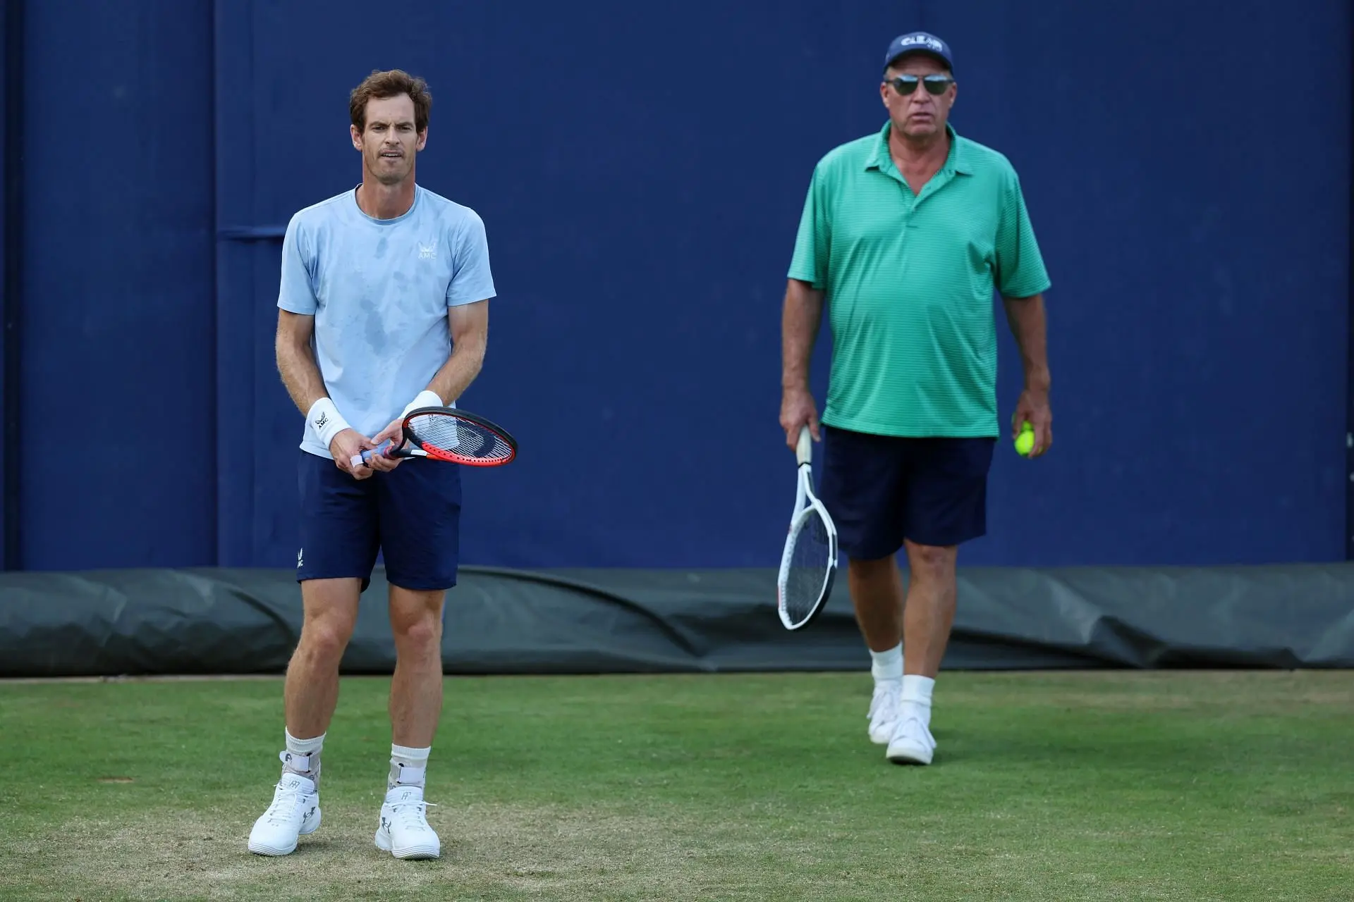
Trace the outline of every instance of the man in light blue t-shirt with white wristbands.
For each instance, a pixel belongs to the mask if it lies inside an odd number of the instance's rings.
[[[282,247],[278,371],[306,415],[299,450],[303,626],[287,668],[286,751],[249,851],[287,855],[320,826],[320,755],[357,603],[383,552],[395,640],[391,755],[376,848],[439,857],[424,787],[441,710],[441,613],[456,583],[460,468],[372,454],[414,407],[454,404],[479,373],[494,283],[474,210],[414,181],[432,99],[374,72],[349,99],[363,179],[291,218]],[[403,464],[403,465],[401,465]]]

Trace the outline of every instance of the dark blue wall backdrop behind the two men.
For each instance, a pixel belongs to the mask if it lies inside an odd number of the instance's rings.
[[[963,560],[1345,557],[1350,0],[584,7],[27,0],[8,565],[294,563],[280,234],[360,180],[348,91],[394,66],[435,97],[420,181],[489,231],[463,404],[523,442],[466,473],[463,559],[773,565],[800,204],[913,27],[953,45],[955,126],[1017,166],[1053,279],[1056,444],[1002,448]]]

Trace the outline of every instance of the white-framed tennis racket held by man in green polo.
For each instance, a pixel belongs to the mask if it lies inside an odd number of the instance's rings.
[[[837,527],[814,494],[812,449],[814,437],[804,426],[795,449],[799,458],[795,513],[776,579],[776,607],[788,630],[808,626],[818,617],[837,576]]]

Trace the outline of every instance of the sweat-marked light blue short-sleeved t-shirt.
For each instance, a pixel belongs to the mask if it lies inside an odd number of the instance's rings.
[[[315,318],[329,398],[368,438],[447,362],[448,307],[493,296],[483,220],[421,185],[397,219],[368,216],[345,191],[287,223],[278,307]],[[301,448],[332,457],[309,422]]]

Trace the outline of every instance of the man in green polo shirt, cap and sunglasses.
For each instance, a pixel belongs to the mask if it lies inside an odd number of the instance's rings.
[[[868,732],[895,763],[932,761],[957,550],[987,529],[1001,435],[994,291],[1025,371],[1013,435],[1028,421],[1032,456],[1052,444],[1048,275],[1010,161],[949,124],[956,93],[944,41],[917,31],[890,43],[888,122],[814,168],[783,319],[780,422],[791,448],[806,423],[823,442],[819,494],[872,657]],[[808,360],[825,304],[833,360],[819,425]]]

